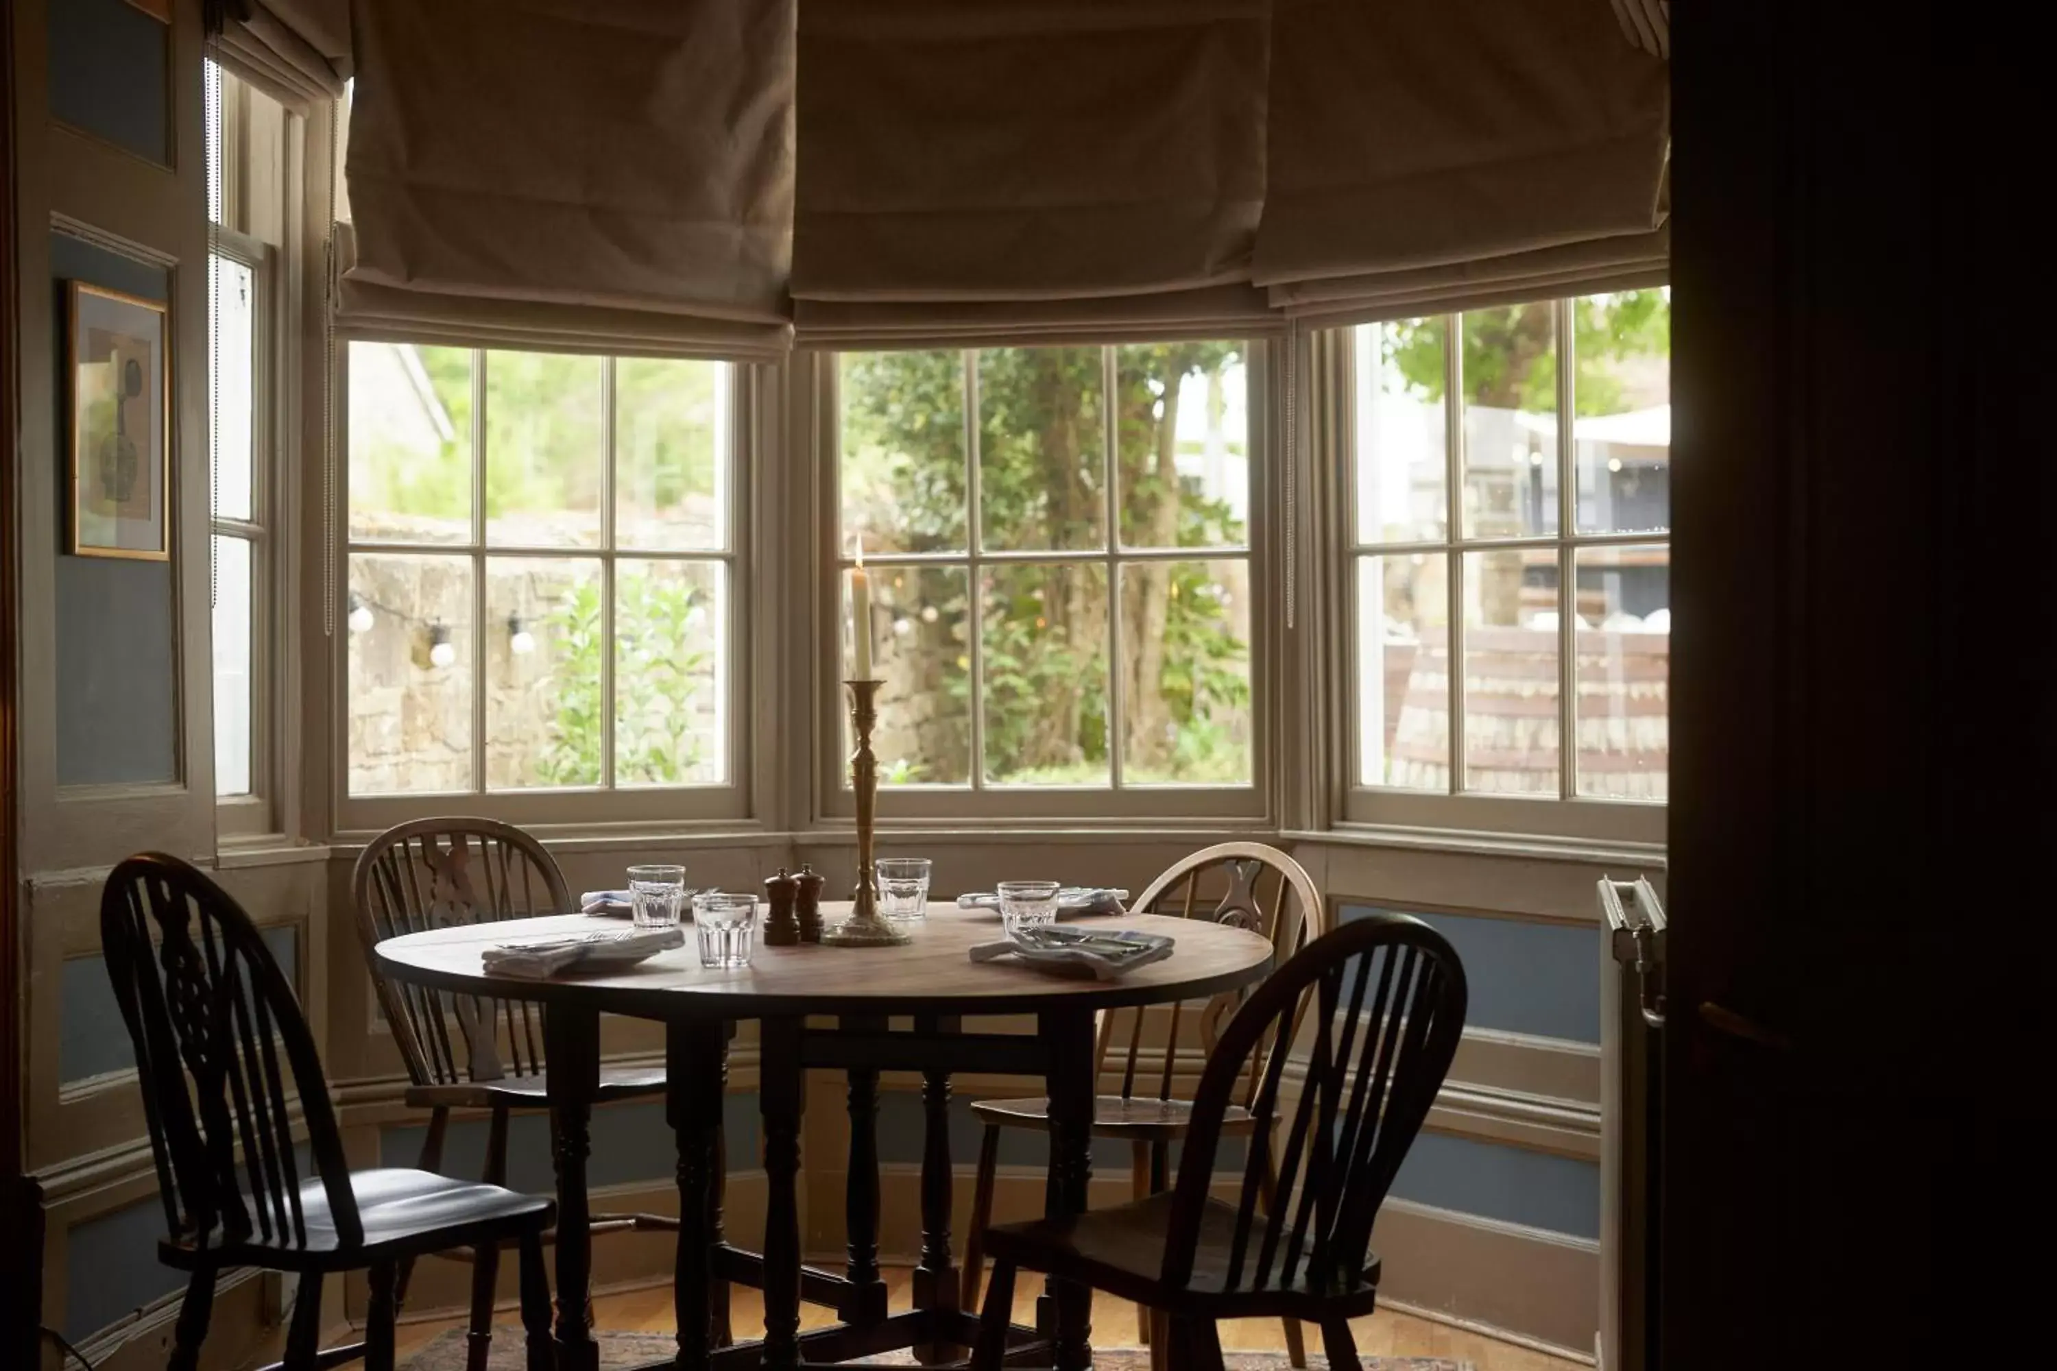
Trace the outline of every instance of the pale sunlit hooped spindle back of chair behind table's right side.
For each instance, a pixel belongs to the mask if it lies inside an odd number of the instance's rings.
[[[1271,941],[1273,966],[1284,966],[1308,939],[1319,937],[1327,919],[1321,892],[1306,869],[1263,843],[1218,843],[1179,859],[1150,882],[1133,902],[1133,911],[1172,919],[1207,919],[1249,929]],[[1222,1024],[1249,995],[1251,989],[1226,991],[1195,1005],[1172,1003],[1168,1013],[1140,1007],[1103,1013],[1100,1077],[1105,1079],[1119,1067],[1119,1094],[1123,1098],[1172,1100],[1179,1096],[1181,1083],[1191,1087],[1205,1069],[1207,1052],[1214,1048]],[[1185,1040],[1191,1034],[1181,1034],[1189,1013],[1197,1020],[1197,1044]],[[1162,1022],[1164,1042],[1152,1071],[1144,1048],[1154,1020]],[[1111,1061],[1117,1046],[1121,1057]],[[1257,1073],[1259,1065],[1251,1063],[1247,1096],[1257,1094]]]

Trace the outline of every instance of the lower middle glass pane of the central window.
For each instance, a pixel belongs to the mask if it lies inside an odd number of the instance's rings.
[[[985,775],[1010,785],[1109,785],[1107,569],[987,565]]]

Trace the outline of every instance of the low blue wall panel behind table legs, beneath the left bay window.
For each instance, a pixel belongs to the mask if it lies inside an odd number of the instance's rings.
[[[728,1165],[755,1170],[761,1145],[757,1131],[757,1096],[732,1094],[724,1102],[722,1128],[728,1135]],[[442,1170],[448,1176],[477,1176],[485,1170],[483,1118],[450,1124],[442,1145]],[[383,1165],[416,1165],[428,1124],[387,1126],[378,1133]],[[664,1122],[662,1100],[638,1100],[592,1112],[592,1159],[586,1163],[588,1186],[625,1186],[640,1180],[671,1180],[679,1174],[679,1147]],[[557,1176],[549,1161],[549,1116],[516,1114],[508,1120],[508,1186],[527,1194],[553,1194]]]

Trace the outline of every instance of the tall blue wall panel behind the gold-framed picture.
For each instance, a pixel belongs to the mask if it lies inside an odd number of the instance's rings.
[[[128,10],[125,4],[117,8]],[[66,6],[53,6],[62,10]],[[134,12],[134,10],[130,10]],[[156,27],[154,21],[144,18]],[[58,489],[70,489],[70,378],[64,284],[171,298],[165,267],[53,232]],[[177,368],[177,358],[173,358]],[[49,512],[66,536],[68,510]],[[62,543],[60,543],[62,547]],[[58,783],[173,781],[179,775],[175,598],[169,561],[58,557]]]

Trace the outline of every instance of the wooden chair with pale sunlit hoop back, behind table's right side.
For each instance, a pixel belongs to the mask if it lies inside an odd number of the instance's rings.
[[[1306,869],[1263,843],[1218,843],[1183,857],[1131,902],[1142,915],[1212,919],[1263,933],[1284,964],[1308,939],[1319,937],[1327,909]],[[1181,1036],[1185,1005],[1162,1011],[1117,1009],[1100,1015],[1098,1075],[1121,1073],[1121,1089],[1100,1096],[1092,1112],[1092,1137],[1129,1145],[1129,1192],[1135,1198],[1164,1190],[1170,1145],[1185,1137],[1193,1120],[1191,1089],[1205,1067],[1222,1024],[1249,991],[1232,991],[1195,1007],[1195,1030]],[[1162,1034],[1158,1040],[1152,1032]],[[1195,1040],[1197,1038],[1197,1040]],[[1115,1050],[1119,1048],[1119,1057]],[[1244,1098],[1222,1118],[1224,1135],[1242,1137],[1255,1126],[1249,1112],[1257,1089],[1253,1073]],[[965,1239],[963,1309],[975,1309],[983,1274],[981,1235],[994,1219],[994,1178],[1000,1165],[1000,1131],[1049,1131],[1049,1100],[979,1100],[971,1112],[985,1122],[979,1147],[979,1178],[971,1196],[971,1227]],[[1150,1318],[1138,1311],[1138,1334],[1150,1342]],[[1306,1365],[1300,1326],[1286,1322],[1292,1365]]]

